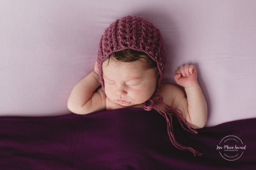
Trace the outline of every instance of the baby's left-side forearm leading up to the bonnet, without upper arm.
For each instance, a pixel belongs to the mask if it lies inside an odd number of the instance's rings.
[[[71,91],[67,102],[69,109],[72,110],[72,108],[79,108],[85,105],[99,86],[99,76],[92,71],[78,82]]]

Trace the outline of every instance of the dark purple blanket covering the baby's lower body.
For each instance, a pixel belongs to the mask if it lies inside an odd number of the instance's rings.
[[[197,135],[173,121],[176,140],[202,152],[202,156],[194,157],[190,151],[172,146],[165,118],[140,108],[83,116],[0,117],[0,169],[256,169],[256,118],[198,129]],[[224,141],[233,145],[226,136],[238,137],[246,146],[238,149],[242,151],[239,158],[231,158],[236,153],[232,148],[230,152],[220,149]],[[221,154],[236,160],[224,159]]]

